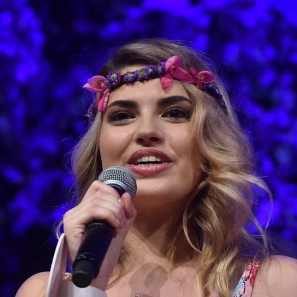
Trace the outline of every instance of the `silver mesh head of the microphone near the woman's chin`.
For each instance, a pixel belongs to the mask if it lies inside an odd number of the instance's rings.
[[[125,185],[125,187],[128,189],[127,192],[132,198],[136,194],[137,186],[135,177],[132,172],[125,167],[111,166],[99,174],[98,180],[103,183],[109,180],[119,181]]]

